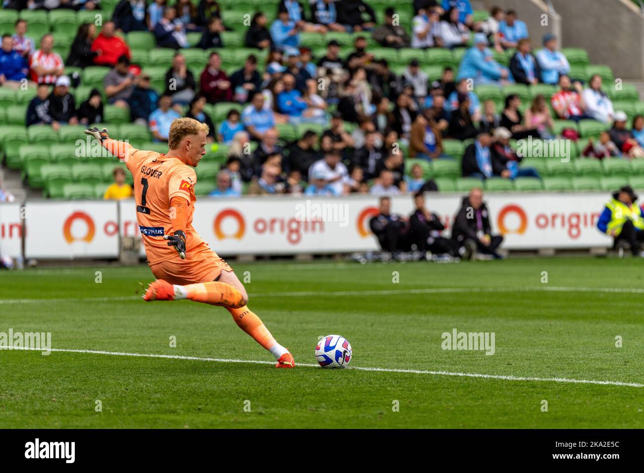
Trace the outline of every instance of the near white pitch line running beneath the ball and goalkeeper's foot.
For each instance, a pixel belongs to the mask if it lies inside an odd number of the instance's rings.
[[[21,347],[21,348],[6,348],[0,349],[14,349],[14,350],[30,350],[30,351],[43,351],[41,348]],[[227,358],[203,358],[203,357],[186,357],[183,355],[158,355],[149,353],[123,353],[120,351],[101,351],[101,350],[74,350],[65,348],[51,348],[49,351],[61,351],[64,353],[91,353],[93,355],[112,355],[117,357],[142,357],[142,358],[167,358],[170,360],[194,360],[194,361],[209,361],[219,363],[251,363],[272,365],[272,361],[260,360],[236,360]],[[316,367],[317,364],[312,363],[298,363],[296,366]],[[320,368],[321,369],[321,368]],[[527,376],[511,376],[511,375],[482,375],[480,373],[451,373],[450,371],[426,371],[422,369],[395,369],[395,368],[372,368],[363,366],[351,366],[350,369],[358,371],[380,371],[384,373],[414,373],[417,375],[437,375],[437,376],[460,376],[463,378],[486,378],[493,380],[505,381],[536,381],[536,382],[555,382],[555,383],[576,383],[576,384],[595,384],[595,385],[611,385],[611,386],[628,386],[628,387],[644,387],[644,384],[627,383],[621,381],[597,381],[597,380],[575,380],[570,378],[533,378]]]

